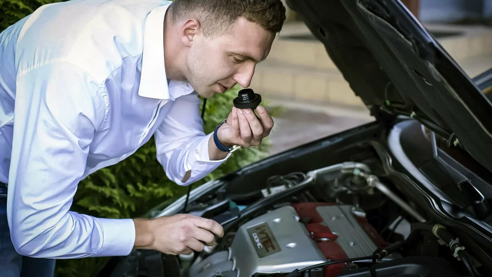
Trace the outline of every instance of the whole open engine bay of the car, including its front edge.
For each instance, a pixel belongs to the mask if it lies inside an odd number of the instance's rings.
[[[412,190],[412,176],[392,164],[386,146],[375,140],[378,129],[370,128],[313,142],[198,187],[187,210],[182,198],[150,216],[215,218],[240,210],[239,218],[223,225],[215,246],[177,256],[134,250],[100,276],[490,276],[491,250],[451,224],[477,214],[472,204],[443,206],[461,217],[432,214],[429,194]]]

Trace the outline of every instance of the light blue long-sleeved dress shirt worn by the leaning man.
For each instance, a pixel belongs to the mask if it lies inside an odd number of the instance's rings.
[[[203,131],[193,88],[168,84],[163,22],[170,3],[48,4],[0,34],[0,182],[8,183],[8,223],[19,253],[127,255],[135,241],[131,219],[69,209],[80,180],[152,135],[157,159],[178,185],[229,157],[210,160],[212,134]]]

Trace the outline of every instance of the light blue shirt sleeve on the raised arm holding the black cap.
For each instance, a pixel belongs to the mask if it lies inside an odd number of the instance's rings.
[[[178,185],[190,185],[222,164],[231,153],[220,160],[211,160],[208,135],[203,131],[200,117],[200,98],[196,92],[180,96],[172,103],[167,117],[155,131],[157,160],[167,177]],[[182,182],[187,171],[191,175]]]

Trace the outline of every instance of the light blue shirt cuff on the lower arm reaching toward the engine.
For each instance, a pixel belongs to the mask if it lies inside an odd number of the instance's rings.
[[[133,219],[97,218],[102,225],[102,247],[97,256],[126,256],[135,245]]]

